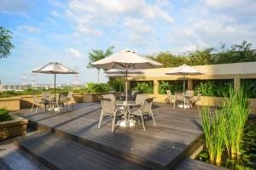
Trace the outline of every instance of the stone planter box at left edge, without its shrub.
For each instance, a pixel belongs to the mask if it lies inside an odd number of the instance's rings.
[[[0,140],[10,139],[26,134],[27,120],[14,116],[14,120],[0,122]]]

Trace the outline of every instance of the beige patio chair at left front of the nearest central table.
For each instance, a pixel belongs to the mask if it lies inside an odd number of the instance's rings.
[[[102,112],[101,112],[98,128],[101,128],[101,123],[104,115],[111,116],[112,117],[111,132],[113,132],[117,116],[123,116],[124,114],[122,112],[119,112],[116,109],[111,99],[102,98],[101,102],[102,102]]]

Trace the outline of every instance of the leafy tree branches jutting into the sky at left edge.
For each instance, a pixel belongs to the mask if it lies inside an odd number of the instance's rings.
[[[8,57],[12,48],[15,46],[10,42],[12,37],[12,31],[0,26],[0,59]]]

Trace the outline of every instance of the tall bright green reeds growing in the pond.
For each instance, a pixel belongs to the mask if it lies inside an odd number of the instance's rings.
[[[203,107],[201,111],[201,123],[212,163],[220,163],[224,147],[231,157],[241,154],[243,132],[250,112],[249,103],[243,90],[235,90],[230,85],[228,94],[219,110],[211,113],[209,107]]]

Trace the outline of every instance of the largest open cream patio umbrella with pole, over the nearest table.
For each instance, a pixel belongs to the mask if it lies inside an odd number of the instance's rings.
[[[142,57],[131,50],[122,50],[117,54],[113,54],[105,59],[98,60],[92,65],[102,69],[120,69],[125,71],[125,75],[128,75],[129,70],[135,69],[150,69],[159,67],[162,64]],[[125,81],[125,100],[127,101],[127,79]]]

